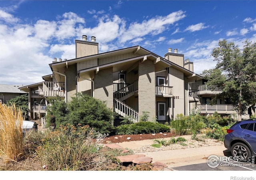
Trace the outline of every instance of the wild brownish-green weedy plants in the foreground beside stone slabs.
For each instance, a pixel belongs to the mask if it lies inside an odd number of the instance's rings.
[[[61,125],[41,140],[36,152],[47,170],[99,170],[106,160],[98,154],[105,136],[89,126]]]

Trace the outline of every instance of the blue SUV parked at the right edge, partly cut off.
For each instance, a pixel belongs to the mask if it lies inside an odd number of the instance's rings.
[[[250,162],[256,156],[256,119],[238,121],[231,126],[224,138],[224,146],[233,157]]]

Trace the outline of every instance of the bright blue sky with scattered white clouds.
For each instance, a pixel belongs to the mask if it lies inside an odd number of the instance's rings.
[[[178,49],[194,72],[226,39],[256,42],[256,1],[0,0],[0,84],[34,84],[53,58],[75,58],[75,40],[96,37],[99,52],[142,46],[159,56]]]

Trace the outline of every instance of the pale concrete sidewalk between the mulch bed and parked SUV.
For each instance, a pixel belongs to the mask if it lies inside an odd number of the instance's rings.
[[[117,143],[123,148],[136,149],[142,146],[154,144],[153,140],[141,140],[131,142]],[[207,162],[207,158],[211,155],[224,156],[224,145],[205,146],[198,148],[185,148],[176,150],[164,150],[158,152],[142,152],[136,154],[144,154],[152,157],[152,162],[161,162],[168,165],[168,168],[184,166],[189,164],[199,164]]]

